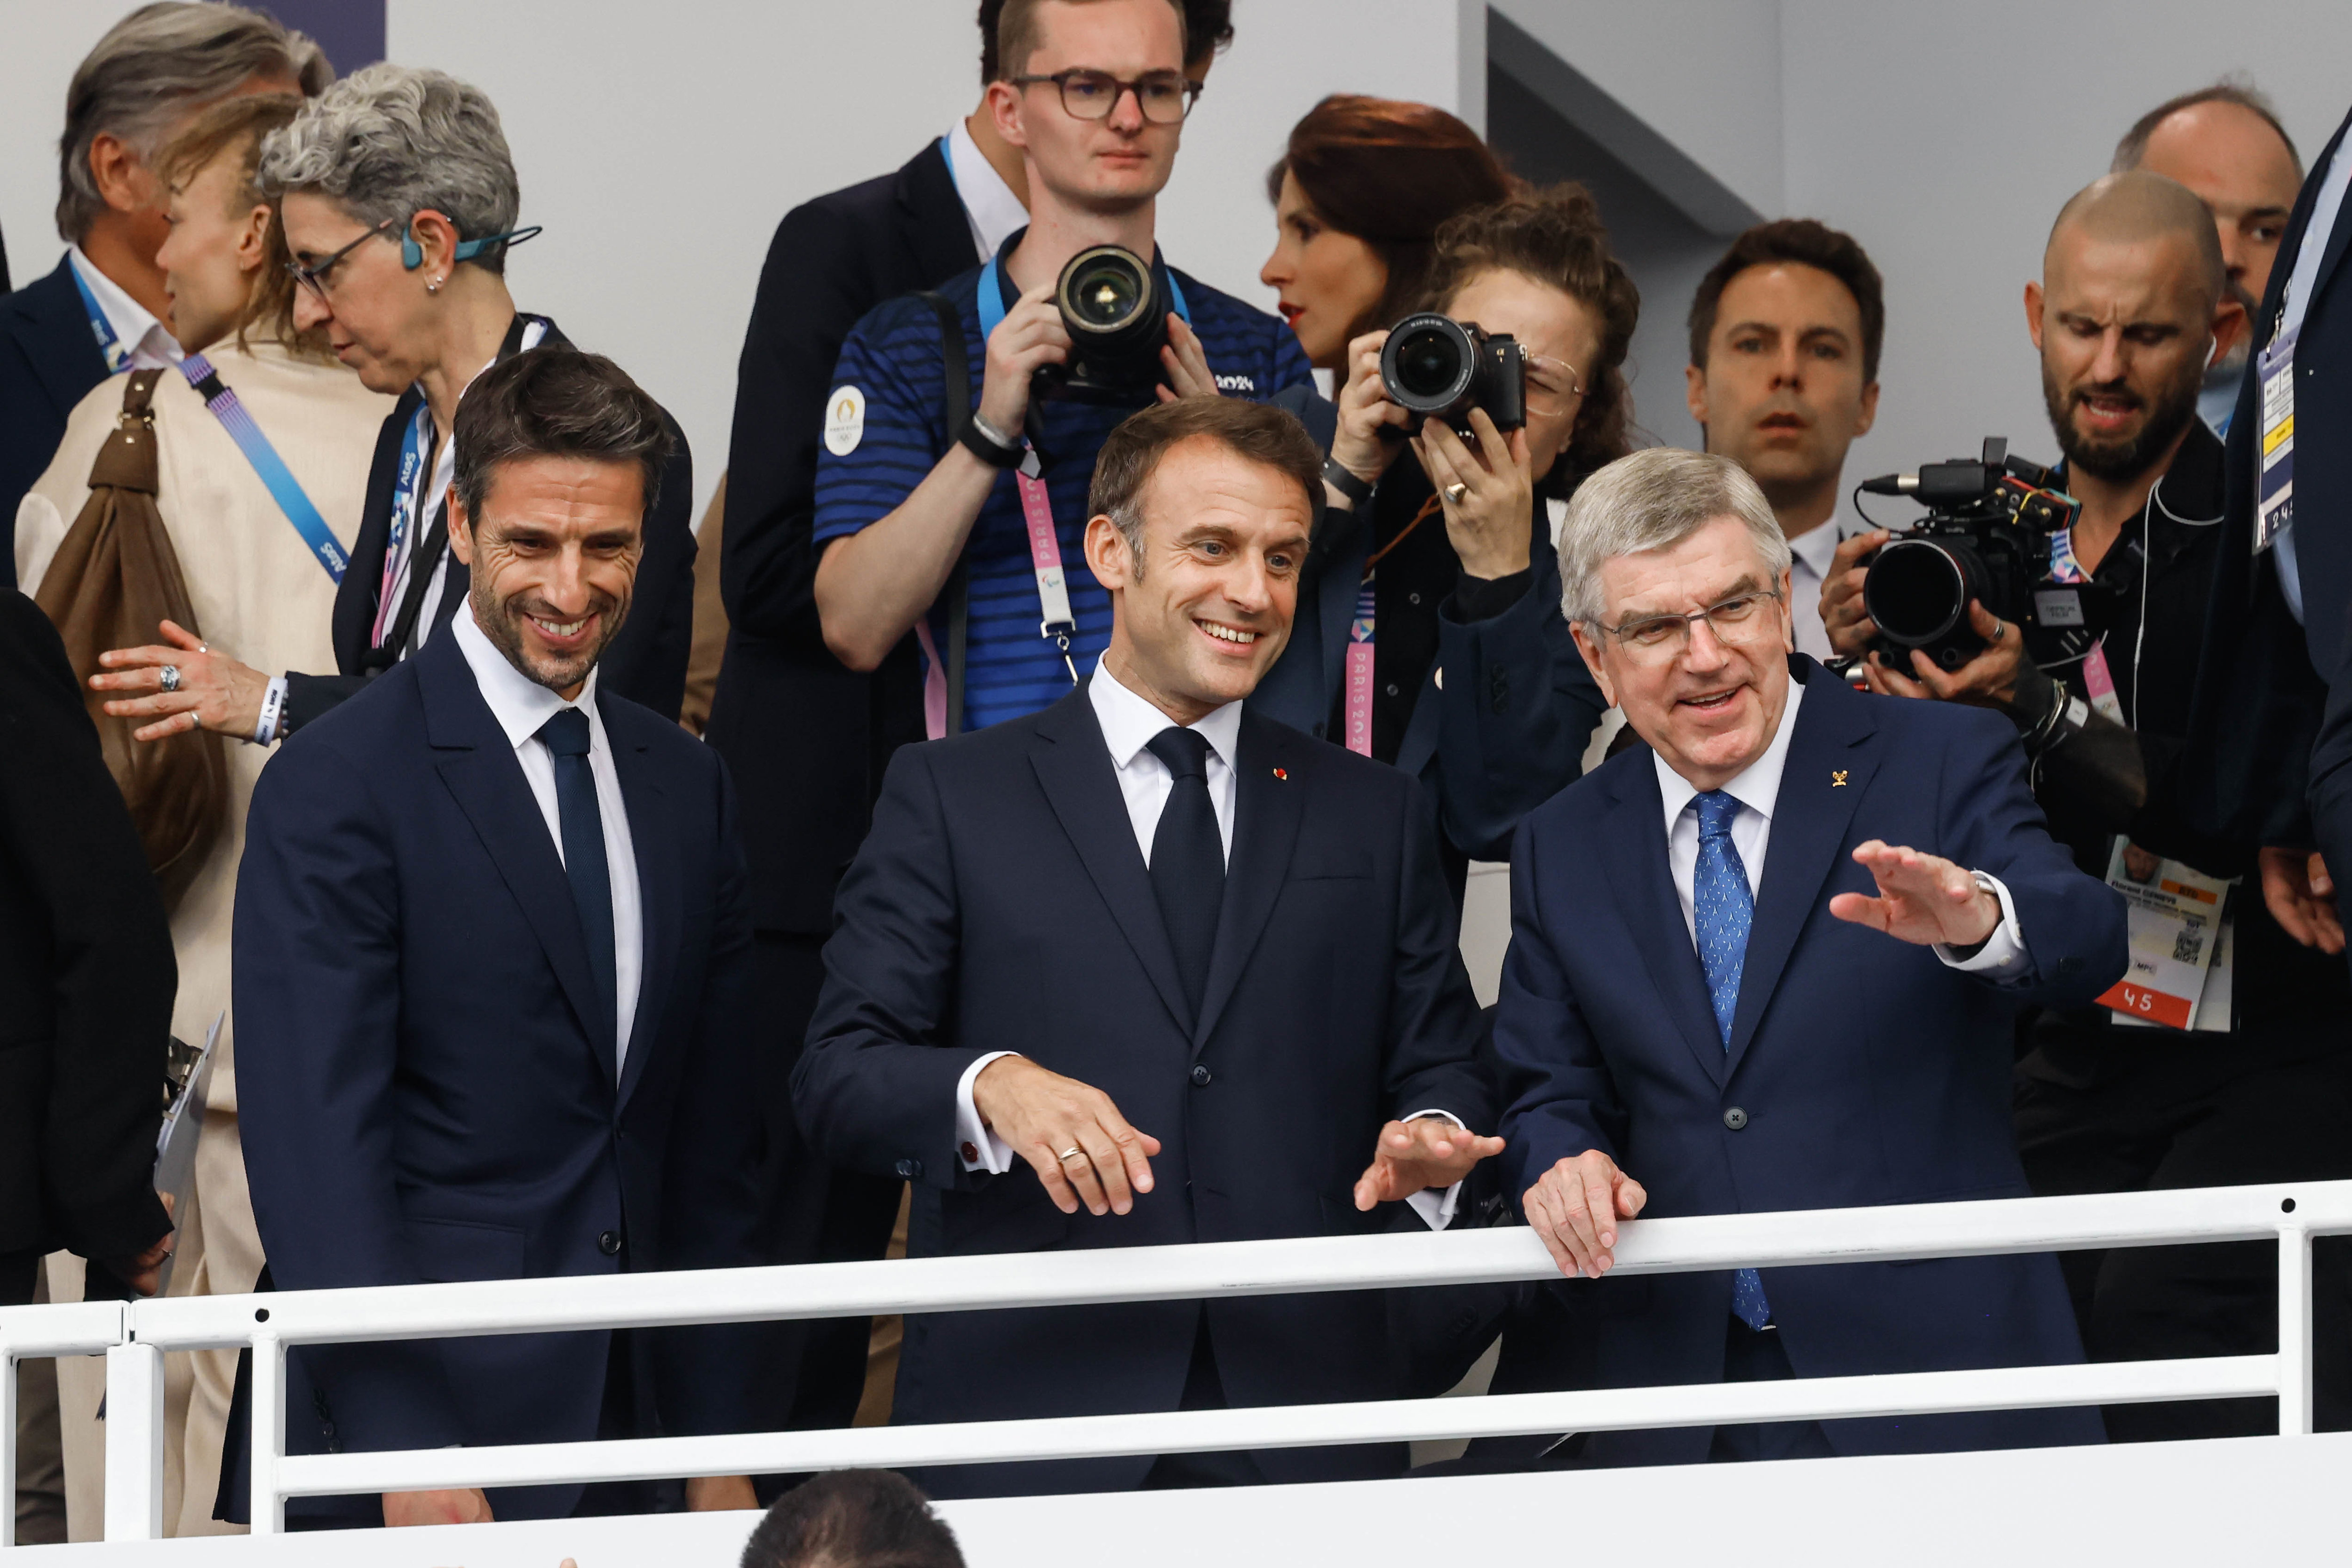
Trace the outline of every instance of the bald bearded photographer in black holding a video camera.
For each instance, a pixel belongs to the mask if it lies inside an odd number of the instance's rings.
[[[2018,520],[1978,529],[1973,656],[1955,639],[1959,628],[1926,646],[1893,644],[1889,623],[1910,623],[1917,595],[1896,592],[1896,576],[1867,576],[1886,571],[1893,550],[1863,569],[1860,597],[1879,611],[1865,663],[1872,691],[2006,712],[2034,762],[2051,832],[2082,870],[2136,903],[2133,973],[2105,1006],[2042,1011],[2025,1025],[2016,1091],[2027,1178],[2039,1194],[2063,1194],[2352,1175],[2343,966],[2291,940],[2249,889],[2225,893],[2211,877],[2241,872],[2251,846],[2190,832],[2176,804],[2223,543],[2223,447],[2197,418],[2197,393],[2244,331],[2211,214],[2159,174],[2096,181],[2060,212],[2044,277],[2025,287],[2025,320],[2065,463],[2046,477],[2011,463],[2027,473],[2009,491],[2020,496]],[[1919,475],[1922,489],[1931,477]],[[2070,512],[2072,527],[2034,529]],[[1896,548],[1924,562],[1938,541],[1955,536]],[[2227,919],[2216,929],[2204,912],[2166,926],[2150,907],[2176,889],[2227,898]],[[2185,997],[2166,978],[2183,966],[2204,976]],[[2150,1018],[2171,1027],[2133,1027]],[[2321,1340],[2352,1338],[2343,1265],[2343,1244],[2321,1244]],[[2277,1347],[2270,1248],[2067,1253],[2065,1269],[2093,1359]],[[2321,1425],[2352,1420],[2347,1373],[2343,1356],[2321,1359]],[[2256,1399],[2107,1410],[2117,1439],[2253,1434],[2274,1422],[2270,1401]]]

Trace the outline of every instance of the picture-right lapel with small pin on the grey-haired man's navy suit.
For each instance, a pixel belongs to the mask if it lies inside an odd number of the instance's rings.
[[[1804,922],[1813,917],[1820,884],[1837,865],[1853,809],[1879,766],[1877,750],[1865,745],[1877,733],[1870,703],[1813,661],[1792,663],[1802,665],[1809,679],[1804,708],[1797,710],[1797,733],[1788,738],[1755,924],[1748,929],[1748,959],[1740,964],[1740,1006],[1731,1016],[1733,1070],[1755,1039],[1757,1020],[1764,1018]]]

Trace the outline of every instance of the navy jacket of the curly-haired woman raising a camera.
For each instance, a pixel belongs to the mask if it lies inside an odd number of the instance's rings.
[[[1275,404],[1296,414],[1317,447],[1331,449],[1336,409],[1329,400],[1294,388]],[[1254,712],[1310,736],[1331,724],[1371,552],[1367,522],[1369,508],[1324,508],[1298,581],[1291,642],[1249,696]],[[1519,818],[1576,783],[1585,745],[1609,708],[1559,614],[1559,555],[1541,498],[1529,529],[1534,576],[1517,604],[1486,621],[1456,621],[1449,607],[1437,611],[1437,658],[1397,748],[1397,766],[1421,780],[1432,825],[1468,860],[1510,856]]]

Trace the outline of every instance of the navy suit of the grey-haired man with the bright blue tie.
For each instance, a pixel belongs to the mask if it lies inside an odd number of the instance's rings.
[[[1731,1048],[1665,858],[1651,750],[1632,745],[1519,827],[1494,1048],[1522,1194],[1604,1150],[1644,1215],[2027,1197],[2009,1124],[2020,1004],[2082,1006],[2124,973],[2124,905],[2042,827],[1994,712],[1863,696],[1792,658],[1804,705],[1771,823]],[[1830,914],[1870,893],[1865,839],[1999,877],[2032,957],[1997,987]],[[1745,1110],[1733,1131],[1724,1117]],[[1588,1291],[1609,1387],[1719,1382],[1731,1274]],[[1950,1258],[1764,1269],[1799,1378],[2082,1361],[2058,1262]],[[2098,1441],[2093,1410],[1828,1425],[1839,1453]],[[1696,1462],[1708,1429],[1595,1434],[1592,1462]]]

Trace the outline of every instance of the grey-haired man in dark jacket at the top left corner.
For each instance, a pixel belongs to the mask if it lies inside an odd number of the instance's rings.
[[[167,235],[155,150],[223,96],[320,92],[332,78],[318,45],[261,12],[181,0],[118,21],[73,73],[56,143],[66,256],[0,301],[0,543],[82,393],[179,360],[155,261]],[[0,550],[0,571],[12,562]]]

